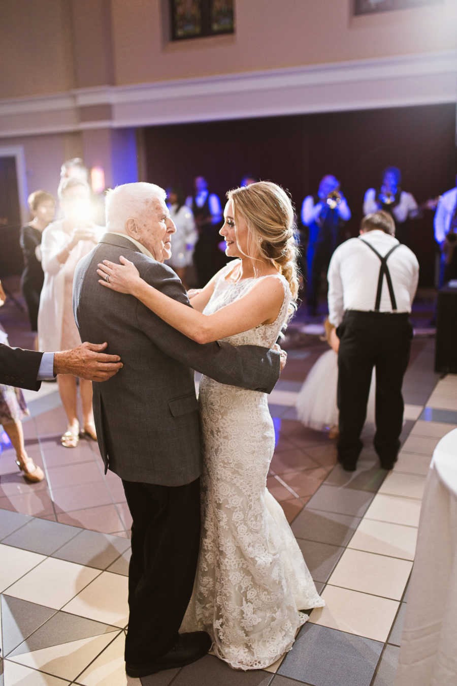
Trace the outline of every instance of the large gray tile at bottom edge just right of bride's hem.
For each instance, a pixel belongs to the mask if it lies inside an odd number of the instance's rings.
[[[305,624],[277,673],[313,686],[369,686],[382,646],[379,641]]]

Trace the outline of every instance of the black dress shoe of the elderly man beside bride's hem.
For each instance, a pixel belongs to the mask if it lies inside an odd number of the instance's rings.
[[[126,662],[125,672],[127,676],[140,678],[140,676],[148,676],[162,670],[184,667],[206,655],[210,648],[211,639],[205,631],[180,634],[169,652],[143,665],[132,665]]]

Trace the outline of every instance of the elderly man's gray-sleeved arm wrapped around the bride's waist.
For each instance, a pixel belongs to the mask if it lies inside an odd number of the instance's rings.
[[[184,287],[169,267],[151,265],[143,279],[180,303],[189,304]],[[176,331],[137,301],[138,327],[160,350],[198,372],[230,386],[270,393],[280,375],[280,355],[260,346],[223,341],[201,345]]]

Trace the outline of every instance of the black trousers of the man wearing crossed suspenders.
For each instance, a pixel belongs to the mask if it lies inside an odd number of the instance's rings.
[[[395,460],[402,433],[402,383],[408,366],[412,327],[408,314],[347,311],[336,333],[338,351],[338,459],[355,463],[367,416],[373,366],[376,370],[375,450]]]

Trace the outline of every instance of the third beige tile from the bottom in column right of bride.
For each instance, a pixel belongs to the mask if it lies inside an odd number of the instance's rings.
[[[348,547],[414,560],[416,540],[417,529],[412,526],[362,519]]]

